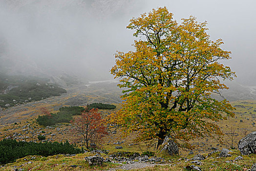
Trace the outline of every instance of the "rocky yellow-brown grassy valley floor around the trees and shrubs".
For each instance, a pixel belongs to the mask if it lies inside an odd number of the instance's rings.
[[[51,127],[39,126],[36,118],[40,115],[40,108],[46,107],[51,112],[57,112],[63,106],[83,106],[93,102],[120,103],[119,95],[121,90],[114,82],[89,83],[70,87],[67,93],[59,97],[50,97],[39,102],[29,102],[17,107],[11,107],[0,112],[0,139],[14,138],[21,141],[57,141],[70,143],[75,142],[75,135],[72,134],[72,125],[62,123]],[[202,171],[246,171],[256,162],[255,154],[241,155],[237,150],[238,141],[248,133],[255,130],[256,126],[256,101],[236,101],[232,105],[236,107],[235,118],[228,118],[218,123],[224,132],[222,142],[208,137],[194,139],[190,142],[194,145],[192,150],[179,149],[178,155],[174,157],[159,156],[152,146],[156,141],[133,142],[136,132],[128,137],[122,137],[121,132],[116,128],[110,128],[107,135],[99,144],[99,151],[87,152],[77,155],[56,155],[49,157],[27,156],[19,159],[16,163],[7,164],[0,170],[110,170],[115,169],[137,169],[137,171],[185,171],[184,167],[194,165]],[[105,117],[114,110],[100,110]],[[45,136],[45,140],[38,140],[38,135]],[[233,136],[234,135],[234,136]],[[150,146],[151,144],[151,146]],[[81,143],[77,145],[81,146]],[[235,150],[226,151],[227,157],[219,157],[222,149]],[[125,153],[121,152],[125,151]],[[224,150],[225,152],[225,150]],[[224,153],[222,152],[222,153]],[[136,156],[134,156],[136,153]],[[199,155],[199,153],[201,155]],[[131,155],[130,155],[131,154]],[[134,155],[133,155],[134,154]],[[139,154],[139,155],[137,155]],[[154,157],[154,156],[157,157]],[[90,166],[86,156],[103,157],[103,165]],[[208,157],[207,157],[208,156]],[[157,165],[157,166],[155,166]],[[145,168],[145,167],[151,167]],[[152,168],[153,167],[153,168]],[[95,169],[94,169],[95,168]],[[142,169],[139,169],[142,168]],[[144,169],[143,169],[144,168]],[[189,170],[189,167],[188,167]]]

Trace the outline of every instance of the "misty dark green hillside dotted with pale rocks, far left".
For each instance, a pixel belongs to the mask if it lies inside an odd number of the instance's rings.
[[[51,96],[60,96],[66,90],[49,79],[0,75],[0,107],[8,108]]]

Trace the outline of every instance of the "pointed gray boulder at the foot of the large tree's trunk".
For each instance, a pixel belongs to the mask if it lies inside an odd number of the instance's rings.
[[[160,152],[166,151],[170,155],[179,154],[179,148],[171,137],[166,136],[162,145],[163,148],[160,150]]]

